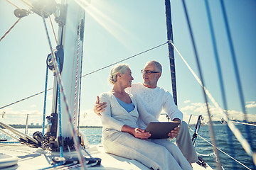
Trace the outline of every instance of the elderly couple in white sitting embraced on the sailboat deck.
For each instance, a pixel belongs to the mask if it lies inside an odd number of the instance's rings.
[[[111,91],[97,97],[95,113],[101,116],[102,145],[105,152],[136,159],[152,169],[192,169],[198,157],[193,148],[188,125],[174,104],[171,94],[156,86],[161,77],[161,64],[147,62],[142,69],[143,83],[132,84],[132,72],[127,64],[112,67],[109,81]],[[146,125],[156,122],[164,111],[181,126],[169,132],[169,139],[147,140]]]

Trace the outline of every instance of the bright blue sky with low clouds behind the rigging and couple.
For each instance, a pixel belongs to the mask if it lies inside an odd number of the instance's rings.
[[[22,4],[18,1],[13,2],[22,7]],[[224,2],[235,46],[248,118],[256,121],[256,2],[254,0]],[[242,120],[238,87],[235,81],[227,35],[225,34],[223,16],[220,11],[220,2],[209,1],[209,4],[213,16],[223,78],[225,79],[228,111],[230,118]],[[186,5],[191,19],[193,35],[196,39],[206,88],[219,105],[223,107],[204,1],[186,1]],[[0,36],[2,36],[18,18],[13,14],[15,7],[7,1],[0,1],[0,9]],[[171,14],[174,45],[191,68],[199,75],[180,0],[171,1]],[[50,30],[48,20],[47,23]],[[56,33],[58,33],[57,29],[57,26],[55,26]],[[51,37],[51,41],[55,47],[53,37]],[[95,71],[164,42],[166,42],[164,1],[93,0],[86,7],[82,74]],[[140,70],[144,67],[144,64],[149,60],[157,60],[161,62],[164,69],[158,85],[171,91],[167,52],[167,45],[164,45],[125,61],[132,69],[133,82],[142,82]],[[44,90],[46,57],[49,53],[42,19],[35,13],[22,18],[6,38],[0,42],[0,107]],[[178,53],[175,52],[174,54],[176,57],[178,108],[183,112],[184,120],[188,121],[190,114],[202,114],[205,120],[208,120],[203,104],[201,86],[193,78]],[[92,107],[97,95],[112,88],[107,82],[109,72],[110,68],[107,68],[82,78],[80,113],[82,115],[82,125],[99,125],[100,120],[93,115]],[[52,86],[53,74],[50,72],[48,87]],[[47,114],[50,114],[51,110],[50,95],[51,91],[48,93]],[[213,103],[210,103],[210,109],[213,120],[219,120],[221,113],[216,110]],[[25,123],[26,117],[24,115],[27,113],[30,114],[31,123],[41,123],[43,94],[1,109],[0,113],[4,111],[6,116],[4,119],[0,118],[0,120],[5,123]],[[87,116],[84,116],[85,113]]]

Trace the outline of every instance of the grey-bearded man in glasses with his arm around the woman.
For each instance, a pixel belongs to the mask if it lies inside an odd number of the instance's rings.
[[[181,149],[181,152],[190,164],[198,162],[198,156],[191,142],[188,125],[186,122],[182,121],[183,113],[176,107],[174,99],[169,91],[157,86],[157,81],[161,77],[161,72],[162,67],[159,62],[146,62],[144,69],[142,69],[143,83],[132,84],[132,87],[127,88],[127,93],[133,94],[137,100],[142,101],[144,109],[146,109],[149,114],[154,115],[156,119],[159,118],[163,109],[169,115],[171,120],[180,122],[181,126],[172,130],[169,133],[169,137],[176,137],[178,148]],[[94,108],[97,115],[100,115],[106,107],[106,103],[99,102],[99,98],[97,97]],[[142,129],[146,129],[146,125],[142,120],[139,120],[139,126]]]

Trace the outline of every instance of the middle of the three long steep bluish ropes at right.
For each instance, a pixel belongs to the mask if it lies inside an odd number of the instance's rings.
[[[214,30],[213,30],[213,22],[212,22],[212,18],[210,16],[210,8],[209,8],[209,4],[208,4],[207,0],[205,0],[205,4],[206,4],[206,13],[207,13],[208,23],[209,23],[209,28],[210,28],[210,36],[211,36],[211,40],[213,42],[213,52],[214,52],[216,66],[217,66],[217,70],[218,70],[218,78],[220,80],[219,82],[220,82],[221,95],[222,95],[222,98],[223,98],[224,113],[228,117],[228,112],[227,112],[228,111],[228,105],[227,105],[227,100],[226,100],[226,97],[225,97],[223,76],[222,76],[222,71],[221,71],[221,67],[220,67],[220,60],[219,60],[218,52],[217,52],[217,43],[216,43],[216,40],[215,40],[215,34],[214,34]],[[228,142],[230,144],[230,153],[231,153],[232,157],[235,157],[235,149],[234,149],[235,147],[233,145],[232,133],[230,132],[230,129],[228,128],[228,126],[226,126],[226,128],[227,128],[227,132],[228,132]],[[233,169],[237,169],[235,167],[235,164],[233,164]]]

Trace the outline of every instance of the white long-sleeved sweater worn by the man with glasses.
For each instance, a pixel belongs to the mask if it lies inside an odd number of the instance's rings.
[[[136,98],[136,101],[141,102],[138,106],[139,113],[141,112],[140,109],[145,109],[147,113],[158,119],[163,110],[169,115],[171,120],[178,118],[182,121],[183,113],[178,110],[174,103],[174,98],[169,91],[158,86],[154,89],[150,89],[145,87],[142,83],[132,84],[132,87],[125,89],[125,91],[132,94]],[[139,120],[139,127],[144,129],[146,128],[146,123],[143,123],[142,120]]]

